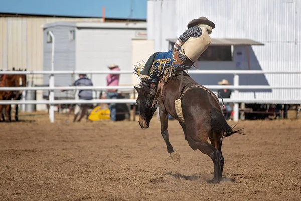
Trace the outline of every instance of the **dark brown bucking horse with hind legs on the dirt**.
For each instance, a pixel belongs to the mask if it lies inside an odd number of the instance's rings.
[[[180,155],[174,151],[169,141],[168,114],[178,120],[185,139],[193,150],[199,149],[208,155],[214,164],[214,176],[208,183],[219,183],[224,168],[222,155],[223,137],[240,133],[233,130],[223,115],[218,98],[209,89],[195,82],[185,71],[177,72],[165,84],[158,85],[157,93],[152,93],[151,83],[142,81],[138,92],[137,105],[141,128],[148,128],[154,112],[159,106],[161,135],[166,143],[167,152],[173,161],[179,162]],[[208,143],[208,138],[211,144]]]

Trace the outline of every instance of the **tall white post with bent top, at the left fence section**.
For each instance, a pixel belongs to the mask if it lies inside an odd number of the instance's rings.
[[[52,51],[51,51],[51,72],[54,71],[54,35],[52,33],[52,31],[49,32],[51,38],[52,38]],[[54,87],[54,74],[51,73],[50,77],[49,77],[49,87]],[[50,90],[49,93],[49,119],[50,122],[53,123],[54,122],[54,104],[51,103],[54,101],[54,91]]]

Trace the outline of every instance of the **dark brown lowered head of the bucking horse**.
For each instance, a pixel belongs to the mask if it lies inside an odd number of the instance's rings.
[[[144,84],[141,88],[134,86],[136,91],[138,92],[137,105],[139,108],[139,125],[142,129],[147,129],[150,124],[150,120],[152,119],[156,109],[157,103],[152,107],[153,99],[155,98],[154,90],[150,88],[148,84]]]

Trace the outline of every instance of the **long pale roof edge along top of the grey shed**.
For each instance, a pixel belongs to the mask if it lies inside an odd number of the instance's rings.
[[[43,28],[50,28],[54,26],[71,26],[78,28],[99,28],[99,29],[143,29],[146,30],[146,22],[54,22],[46,23]]]

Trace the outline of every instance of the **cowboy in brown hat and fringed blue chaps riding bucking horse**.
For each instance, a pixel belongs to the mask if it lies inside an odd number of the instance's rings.
[[[167,69],[189,69],[211,43],[210,34],[215,24],[206,17],[200,17],[190,21],[188,29],[177,39],[173,49],[168,52],[155,52],[147,60],[144,69],[137,75],[142,79],[149,79],[156,85],[159,82],[159,74]],[[169,66],[169,67],[167,67]],[[162,77],[161,77],[162,78]]]

